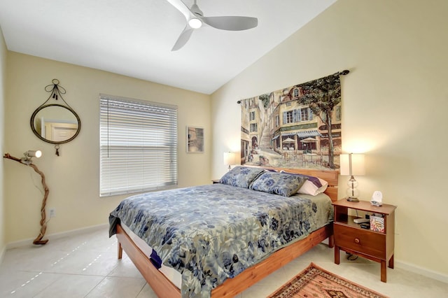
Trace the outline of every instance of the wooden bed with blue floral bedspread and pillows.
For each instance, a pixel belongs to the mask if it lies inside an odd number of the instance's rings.
[[[238,166],[220,183],[123,200],[109,234],[159,297],[234,297],[325,239],[333,246],[337,177]],[[325,192],[296,193],[311,180]]]

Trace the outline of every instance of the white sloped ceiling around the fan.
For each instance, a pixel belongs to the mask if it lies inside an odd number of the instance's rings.
[[[176,52],[186,19],[167,0],[0,0],[0,27],[14,52],[211,94],[335,1],[197,0],[258,27],[202,27]]]

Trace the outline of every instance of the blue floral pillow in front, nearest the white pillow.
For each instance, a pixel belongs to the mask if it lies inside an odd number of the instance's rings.
[[[268,192],[269,194],[280,194],[290,197],[302,187],[307,177],[289,175],[287,173],[275,173],[267,171],[262,173],[251,185],[251,190]]]

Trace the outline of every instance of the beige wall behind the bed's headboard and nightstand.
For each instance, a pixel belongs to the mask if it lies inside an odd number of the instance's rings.
[[[212,94],[212,177],[239,150],[238,99],[343,69],[342,137],[365,152],[369,200],[398,206],[395,264],[448,281],[448,1],[339,0]],[[341,177],[340,197],[347,177]]]

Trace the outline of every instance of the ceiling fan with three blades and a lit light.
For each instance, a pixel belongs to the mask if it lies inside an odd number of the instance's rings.
[[[186,18],[187,24],[183,29],[181,35],[174,43],[172,51],[179,50],[190,39],[191,34],[195,29],[202,27],[202,24],[207,24],[211,27],[221,30],[241,31],[255,28],[258,25],[256,17],[239,17],[239,16],[221,16],[221,17],[204,17],[204,14],[195,3],[191,8],[188,8],[181,0],[167,0],[177,10],[179,10]]]

